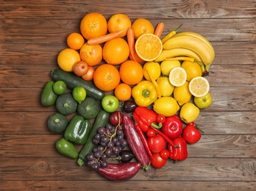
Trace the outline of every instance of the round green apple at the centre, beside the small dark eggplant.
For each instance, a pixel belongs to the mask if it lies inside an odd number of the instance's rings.
[[[102,98],[102,107],[106,112],[115,112],[119,107],[118,98],[115,95],[105,95]]]

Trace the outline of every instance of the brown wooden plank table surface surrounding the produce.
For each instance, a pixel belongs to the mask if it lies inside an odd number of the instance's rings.
[[[255,190],[255,0],[0,1],[0,190]],[[163,21],[163,35],[207,37],[216,59],[207,79],[213,104],[196,120],[205,131],[188,159],[114,182],[57,153],[40,93],[65,38],[88,12]]]

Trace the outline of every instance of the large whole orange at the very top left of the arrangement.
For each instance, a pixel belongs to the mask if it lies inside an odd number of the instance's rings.
[[[80,31],[85,39],[99,37],[107,33],[107,20],[99,12],[90,12],[82,18]]]

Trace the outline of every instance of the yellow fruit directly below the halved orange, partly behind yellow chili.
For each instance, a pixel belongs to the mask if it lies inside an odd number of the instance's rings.
[[[152,74],[154,80],[157,80],[161,75],[161,68],[157,62],[146,62],[143,65],[143,76],[146,80],[151,81],[148,71]]]

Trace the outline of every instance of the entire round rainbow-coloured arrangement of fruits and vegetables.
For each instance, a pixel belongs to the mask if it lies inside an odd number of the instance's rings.
[[[215,51],[181,27],[161,37],[163,22],[85,15],[41,94],[43,107],[56,108],[49,131],[63,134],[56,151],[113,181],[187,159],[202,137],[196,119],[212,104],[205,76]]]

